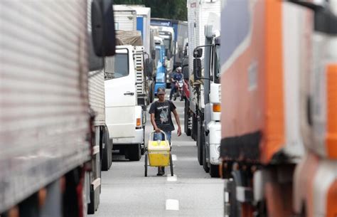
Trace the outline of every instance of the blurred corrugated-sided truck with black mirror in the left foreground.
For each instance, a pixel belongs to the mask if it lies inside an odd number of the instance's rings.
[[[88,72],[114,55],[112,1],[0,8],[0,216],[85,216],[100,196]]]

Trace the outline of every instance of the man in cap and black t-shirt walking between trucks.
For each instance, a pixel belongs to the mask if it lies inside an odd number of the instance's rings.
[[[154,134],[154,140],[161,140],[162,134],[161,130],[165,132],[167,139],[171,144],[171,132],[174,130],[174,125],[172,122],[171,112],[173,112],[174,118],[176,119],[176,123],[178,125],[177,134],[178,137],[181,135],[181,126],[179,115],[176,111],[176,106],[173,102],[169,100],[165,100],[165,90],[162,88],[158,88],[157,96],[159,98],[158,101],[152,102],[149,113],[151,115],[151,124],[154,126],[154,130],[156,133]],[[163,176],[165,174],[165,167],[158,167],[157,176]]]

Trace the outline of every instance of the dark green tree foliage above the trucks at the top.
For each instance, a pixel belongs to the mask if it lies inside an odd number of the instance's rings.
[[[114,4],[142,4],[151,8],[151,17],[187,21],[186,0],[114,0]]]

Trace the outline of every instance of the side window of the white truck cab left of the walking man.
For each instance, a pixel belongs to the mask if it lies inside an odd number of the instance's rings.
[[[116,53],[113,58],[105,58],[105,80],[129,75],[127,53]]]

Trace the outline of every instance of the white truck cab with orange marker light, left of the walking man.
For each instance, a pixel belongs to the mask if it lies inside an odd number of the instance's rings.
[[[138,161],[144,128],[142,107],[137,105],[133,52],[134,46],[116,46],[114,58],[105,60],[105,117],[114,149]]]

